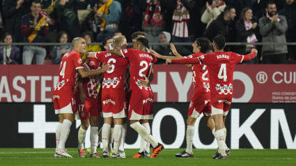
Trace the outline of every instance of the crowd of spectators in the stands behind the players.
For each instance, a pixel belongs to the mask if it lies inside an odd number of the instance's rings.
[[[296,42],[294,0],[1,0],[0,37],[2,43],[67,43],[87,33],[88,51],[104,50],[108,36],[123,34],[127,42],[132,33],[143,31],[150,45],[172,56],[169,43],[192,43],[195,38],[212,40],[217,34],[226,42]],[[67,41],[61,40],[61,33]],[[8,40],[7,36],[12,40]],[[258,49],[248,63],[295,63],[295,45],[231,45],[226,50],[240,54]],[[4,50],[6,48],[6,50]],[[59,46],[0,47],[0,63],[59,63],[70,44]],[[190,45],[176,45],[180,54],[189,54]],[[85,56],[84,56],[85,58]],[[46,62],[44,60],[47,59]],[[159,61],[157,63],[163,63]]]

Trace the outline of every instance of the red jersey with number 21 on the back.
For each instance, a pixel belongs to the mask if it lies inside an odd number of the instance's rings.
[[[143,80],[144,75],[149,77],[153,64],[157,61],[156,57],[148,52],[134,49],[120,50],[120,52],[130,61],[130,90],[150,89],[150,86],[142,86],[139,80]]]

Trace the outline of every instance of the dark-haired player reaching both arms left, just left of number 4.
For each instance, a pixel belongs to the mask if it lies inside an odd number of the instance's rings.
[[[171,50],[176,56],[162,56],[157,52],[151,50],[157,58],[161,59],[192,59],[197,58],[208,52],[212,52],[212,43],[207,38],[197,38],[192,44],[194,54],[189,56],[181,56],[178,54],[176,48],[171,44]],[[215,123],[212,119],[212,111],[210,107],[210,80],[208,75],[207,66],[204,64],[189,64],[188,67],[192,67],[192,82],[194,85],[194,95],[189,105],[188,118],[187,118],[187,130],[186,130],[186,142],[187,148],[181,153],[176,153],[177,158],[189,158],[193,157],[192,142],[194,138],[194,124],[196,119],[203,114],[205,122],[208,128],[215,133]]]

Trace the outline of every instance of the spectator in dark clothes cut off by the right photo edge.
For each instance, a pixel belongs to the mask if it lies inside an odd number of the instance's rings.
[[[296,42],[296,4],[295,0],[286,0],[285,5],[279,10],[280,15],[284,15],[287,20],[288,29],[286,31],[287,42]],[[288,60],[296,60],[296,46],[288,45]]]

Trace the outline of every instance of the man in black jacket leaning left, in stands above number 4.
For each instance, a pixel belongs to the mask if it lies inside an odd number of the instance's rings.
[[[221,13],[216,20],[214,20],[205,30],[205,37],[213,40],[218,34],[226,38],[226,42],[233,42],[235,35],[235,26],[233,20],[235,19],[235,8],[233,6],[226,6],[224,12]]]

